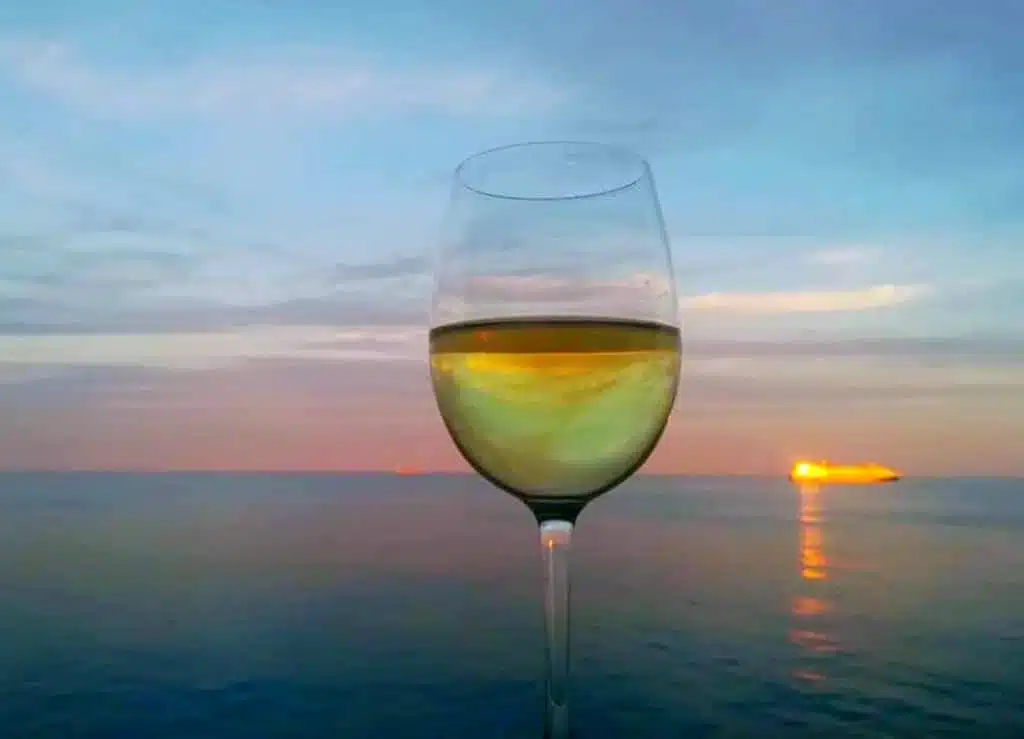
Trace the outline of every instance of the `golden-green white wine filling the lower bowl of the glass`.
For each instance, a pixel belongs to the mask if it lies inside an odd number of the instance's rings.
[[[588,497],[653,450],[679,380],[679,330],[534,318],[430,333],[441,418],[477,472],[526,498]]]

